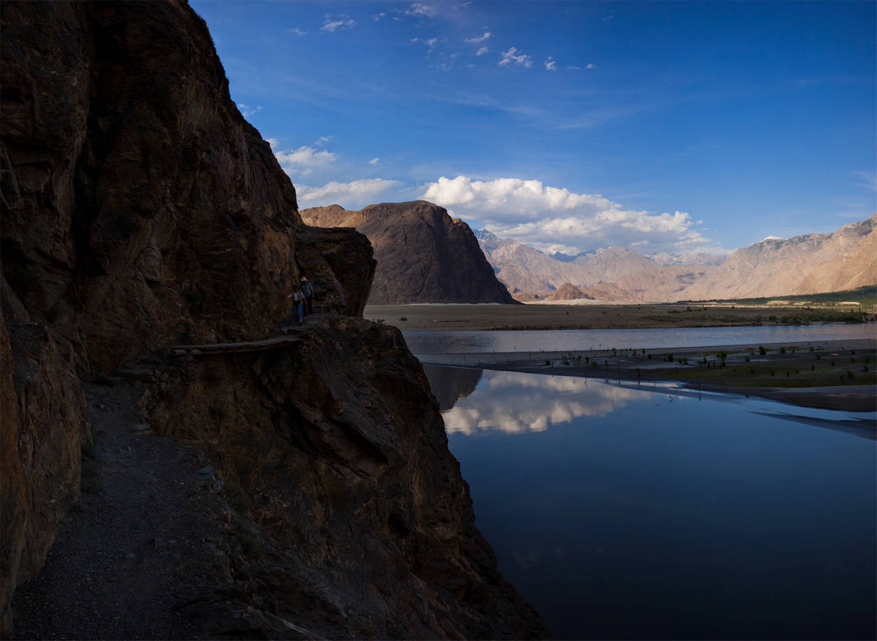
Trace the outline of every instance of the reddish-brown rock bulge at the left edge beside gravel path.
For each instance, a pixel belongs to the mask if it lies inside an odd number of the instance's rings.
[[[57,523],[79,497],[80,448],[90,442],[71,362],[46,327],[0,317],[0,607],[11,629],[15,588],[39,572]]]

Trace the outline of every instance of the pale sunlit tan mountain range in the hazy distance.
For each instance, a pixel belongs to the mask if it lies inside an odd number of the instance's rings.
[[[551,256],[512,239],[478,231],[497,277],[519,300],[554,296],[568,283],[610,301],[708,300],[811,294],[877,281],[877,214],[828,234],[766,239],[730,257],[645,256],[609,247],[579,256]],[[568,288],[562,298],[570,295]]]

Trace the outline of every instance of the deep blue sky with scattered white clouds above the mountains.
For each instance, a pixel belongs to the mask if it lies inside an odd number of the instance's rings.
[[[302,208],[647,254],[877,210],[873,2],[191,5]]]

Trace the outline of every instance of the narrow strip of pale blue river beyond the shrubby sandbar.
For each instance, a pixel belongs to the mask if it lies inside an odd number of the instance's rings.
[[[806,343],[838,338],[877,338],[873,324],[771,325],[751,327],[674,327],[638,330],[404,331],[417,353],[545,352],[561,350],[747,343]]]

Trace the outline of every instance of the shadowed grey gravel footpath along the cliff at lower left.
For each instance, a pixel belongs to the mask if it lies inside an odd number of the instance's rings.
[[[16,638],[198,638],[187,604],[231,584],[220,481],[139,424],[127,383],[86,385],[95,430],[80,502],[13,601]]]

